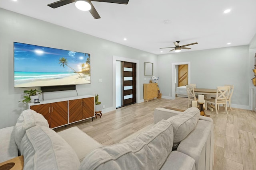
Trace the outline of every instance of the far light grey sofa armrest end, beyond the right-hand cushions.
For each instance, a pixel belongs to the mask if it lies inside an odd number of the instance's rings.
[[[167,120],[168,118],[178,115],[180,113],[183,112],[157,107],[156,109],[154,109],[154,124],[156,124],[158,121],[162,119]]]

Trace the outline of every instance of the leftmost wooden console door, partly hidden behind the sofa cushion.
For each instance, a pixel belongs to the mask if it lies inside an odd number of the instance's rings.
[[[49,127],[51,128],[51,111],[50,111],[51,104],[40,104],[30,106],[30,109],[40,113],[44,116],[44,118],[48,121]]]

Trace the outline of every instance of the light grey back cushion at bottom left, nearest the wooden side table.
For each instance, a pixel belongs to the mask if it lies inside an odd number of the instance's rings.
[[[48,127],[28,129],[20,147],[24,170],[77,170],[80,166],[75,151]]]

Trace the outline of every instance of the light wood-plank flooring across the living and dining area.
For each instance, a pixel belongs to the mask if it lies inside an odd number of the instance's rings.
[[[77,126],[102,145],[112,145],[153,123],[156,107],[187,109],[188,99],[155,99],[104,113],[92,121],[67,125]],[[218,115],[205,111],[214,121],[214,170],[256,170],[256,112],[220,106]],[[61,131],[65,127],[54,129]]]

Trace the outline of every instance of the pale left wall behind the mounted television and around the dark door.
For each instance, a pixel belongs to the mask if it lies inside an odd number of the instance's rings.
[[[78,95],[99,94],[99,100],[106,109],[115,108],[113,103],[113,56],[136,59],[140,69],[140,100],[143,100],[143,83],[150,77],[144,76],[144,62],[154,63],[154,75],[158,76],[157,56],[145,51],[113,43],[78,31],[64,28],[52,23],[30,18],[0,8],[0,128],[15,125],[26,104],[18,103],[22,99],[23,90],[30,88],[14,88],[13,85],[13,42],[28,43],[79,51],[91,54],[91,84],[76,86]],[[90,23],[88,23],[90,26]],[[86,28],[84,28],[86,29]],[[98,80],[102,79],[102,83]],[[146,80],[144,80],[144,78]],[[75,96],[76,92],[49,92],[44,100]],[[42,100],[42,96],[40,96]],[[139,101],[137,101],[139,102]]]

